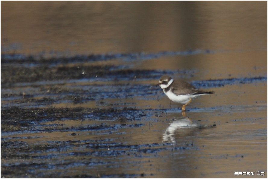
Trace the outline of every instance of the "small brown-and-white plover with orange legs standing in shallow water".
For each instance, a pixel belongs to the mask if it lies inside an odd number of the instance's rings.
[[[193,85],[185,81],[175,81],[168,75],[163,75],[156,86],[160,86],[171,101],[182,103],[182,112],[185,111],[185,107],[193,98],[215,93],[214,91],[197,90]]]

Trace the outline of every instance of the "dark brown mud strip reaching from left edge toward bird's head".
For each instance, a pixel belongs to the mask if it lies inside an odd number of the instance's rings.
[[[112,70],[113,69],[113,70]],[[131,70],[118,69],[115,66],[75,66],[75,67],[55,67],[47,66],[25,68],[25,67],[2,67],[1,70],[1,85],[11,85],[18,82],[33,82],[36,80],[62,80],[62,79],[81,79],[94,77],[158,77],[159,73],[154,70]],[[166,74],[166,72],[163,72]],[[143,74],[143,75],[141,75]]]

